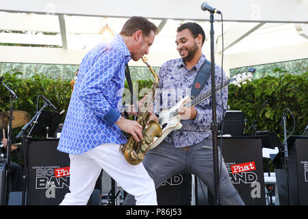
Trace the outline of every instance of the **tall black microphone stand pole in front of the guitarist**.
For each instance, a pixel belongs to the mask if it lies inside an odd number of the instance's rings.
[[[214,58],[214,13],[210,12],[209,22],[211,23],[211,30],[209,35],[211,37],[211,100],[212,100],[212,122],[211,133],[213,140],[213,164],[214,164],[214,205],[219,205],[218,185],[219,185],[219,168],[218,168],[218,128],[216,116],[216,83],[215,83],[215,58]]]

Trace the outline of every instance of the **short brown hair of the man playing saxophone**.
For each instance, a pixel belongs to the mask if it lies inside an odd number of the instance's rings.
[[[129,18],[122,27],[120,34],[123,36],[132,36],[138,30],[141,30],[145,36],[149,36],[151,30],[155,35],[159,33],[159,29],[154,23],[142,16],[132,16]]]

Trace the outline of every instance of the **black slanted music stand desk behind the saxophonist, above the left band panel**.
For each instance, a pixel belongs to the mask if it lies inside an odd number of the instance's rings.
[[[53,136],[55,129],[61,123],[62,116],[63,114],[58,112],[42,110],[38,120],[29,131],[29,135],[31,133],[32,136],[46,136],[47,138],[48,136]]]

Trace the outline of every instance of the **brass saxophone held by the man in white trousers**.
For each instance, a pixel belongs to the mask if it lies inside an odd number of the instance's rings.
[[[155,120],[151,120],[149,122],[151,106],[153,105],[153,101],[155,99],[155,88],[158,88],[159,79],[145,57],[142,57],[142,61],[151,70],[155,81],[152,83],[151,91],[144,101],[143,108],[145,110],[140,113],[137,119],[137,122],[142,125],[143,139],[139,142],[136,142],[133,136],[129,134],[127,143],[120,145],[120,152],[124,154],[127,162],[132,165],[137,165],[142,162],[144,155],[150,150],[150,144],[153,142],[153,139],[155,137],[159,138],[162,136],[162,127],[160,127],[159,123],[157,123]]]

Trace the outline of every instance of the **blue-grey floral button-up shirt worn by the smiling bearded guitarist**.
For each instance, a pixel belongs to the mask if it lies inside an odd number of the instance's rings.
[[[202,55],[198,63],[190,70],[185,67],[183,60],[175,59],[165,62],[159,68],[159,88],[160,97],[155,97],[154,112],[159,110],[170,109],[175,103],[179,102],[183,97],[190,96],[192,83],[196,77],[196,73],[203,64],[205,55]],[[215,82],[216,85],[225,81],[226,75],[220,66],[215,65]],[[203,94],[211,90],[211,75],[205,83],[205,86],[199,92]],[[221,95],[222,94],[222,95]],[[227,97],[228,89],[223,88],[222,92],[216,92],[216,112],[217,121],[220,122],[227,110]],[[221,97],[222,96],[222,101]],[[158,109],[157,98],[160,100],[160,107]],[[223,102],[223,103],[222,103]],[[172,131],[166,138],[166,142],[173,142],[176,148],[183,146],[190,146],[201,142],[205,138],[211,135],[211,122],[212,122],[212,110],[211,110],[211,97],[201,101],[195,105],[196,118],[194,120],[181,120],[183,125],[181,129]]]

